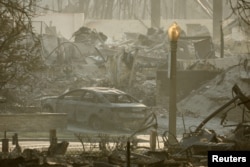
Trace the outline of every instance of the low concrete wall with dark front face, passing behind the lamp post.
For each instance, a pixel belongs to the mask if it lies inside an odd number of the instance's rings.
[[[221,71],[227,70],[230,67],[237,66],[240,62],[243,62],[249,56],[239,55],[231,56],[225,58],[216,58],[216,59],[207,59],[204,60],[205,63],[208,63],[214,66],[215,69],[220,69]],[[177,73],[177,94],[181,97],[185,97],[192,90],[199,88],[202,84],[206,83],[209,80],[212,80],[216,77],[220,71],[209,71],[208,69],[204,70],[192,70],[188,71],[188,67],[197,60],[178,60],[185,71]],[[206,66],[203,64],[202,68]],[[240,71],[239,71],[240,72]],[[240,73],[239,73],[240,76]],[[157,97],[156,101],[158,105],[166,105],[167,100],[167,91],[169,89],[169,83],[167,78],[167,71],[157,71]],[[183,84],[185,83],[185,84]],[[231,87],[230,87],[231,88]],[[230,89],[229,88],[229,89]],[[183,96],[184,95],[184,96]]]

